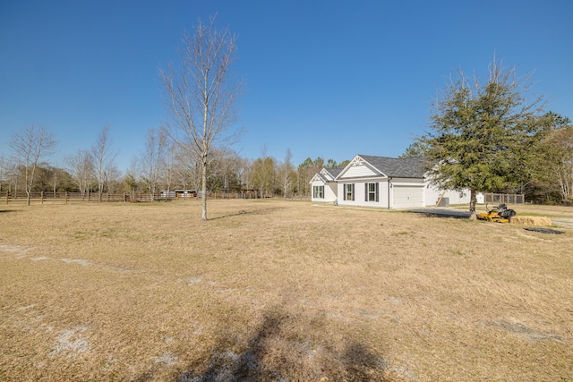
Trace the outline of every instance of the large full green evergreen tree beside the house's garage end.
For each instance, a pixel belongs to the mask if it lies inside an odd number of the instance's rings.
[[[470,218],[478,192],[515,186],[528,176],[528,148],[538,130],[542,98],[528,99],[529,79],[495,60],[484,83],[463,72],[432,105],[431,132],[416,139],[432,159],[432,182],[449,190],[469,189]]]

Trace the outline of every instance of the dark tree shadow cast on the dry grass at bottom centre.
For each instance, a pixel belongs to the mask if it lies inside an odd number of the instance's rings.
[[[211,352],[207,368],[190,369],[175,381],[394,380],[386,361],[363,344],[351,341],[342,351],[316,344],[312,335],[292,330],[300,321],[284,310],[269,310],[242,352],[229,350],[235,346],[223,341]]]

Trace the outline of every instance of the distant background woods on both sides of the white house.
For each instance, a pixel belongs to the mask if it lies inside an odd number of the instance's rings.
[[[526,174],[519,174],[515,183],[500,183],[494,191],[523,193],[527,200],[537,203],[570,205],[573,203],[571,121],[568,117],[548,112],[536,123],[542,128],[535,138],[535,145],[526,150],[529,159],[524,166],[529,170]],[[115,164],[117,152],[109,125],[102,128],[89,149],[79,149],[64,157],[64,166],[54,166],[46,160],[56,149],[56,140],[49,129],[30,125],[15,134],[19,140],[28,138],[29,143],[30,140],[38,140],[34,135],[41,135],[44,144],[48,142],[49,145],[38,156],[33,183],[28,183],[27,173],[32,171],[30,160],[34,157],[30,155],[28,165],[25,157],[25,154],[31,154],[32,148],[23,150],[24,155],[13,150],[11,157],[0,156],[0,194],[90,192],[101,197],[106,193],[124,192],[134,198],[142,193],[158,196],[160,191],[201,190],[201,165],[186,155],[184,149],[170,142],[161,129],[146,132],[144,148],[124,171]],[[11,146],[18,147],[13,142]],[[290,149],[286,149],[283,160],[269,156],[265,148],[261,149],[261,157],[256,159],[240,157],[230,149],[219,150],[214,155],[217,158],[210,163],[209,192],[256,191],[260,198],[310,197],[310,181],[314,174],[322,168],[344,167],[350,162],[348,159],[337,163],[331,158],[307,157],[296,165],[292,162]],[[415,140],[400,157],[426,155],[423,143]]]

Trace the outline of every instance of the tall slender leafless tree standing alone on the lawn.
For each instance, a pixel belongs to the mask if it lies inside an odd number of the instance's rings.
[[[238,131],[231,131],[243,88],[243,81],[231,72],[236,40],[228,29],[215,28],[215,18],[207,25],[199,21],[192,36],[183,35],[180,64],[160,71],[172,137],[191,150],[201,166],[202,220],[207,220],[211,151],[229,147],[238,138]]]

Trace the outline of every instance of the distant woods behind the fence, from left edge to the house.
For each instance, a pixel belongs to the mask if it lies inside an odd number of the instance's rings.
[[[50,137],[50,144],[44,147],[44,152],[37,156],[38,161],[34,164],[32,161],[36,156],[31,152],[33,146],[38,149],[38,144],[32,145],[31,142],[38,139],[40,132],[43,137]],[[168,140],[161,129],[146,132],[144,148],[124,171],[115,163],[117,151],[109,125],[99,132],[89,149],[79,149],[64,157],[64,166],[54,166],[48,161],[56,149],[56,140],[46,127],[30,125],[13,134],[11,146],[17,146],[15,141],[20,141],[20,146],[26,146],[26,142],[30,145],[20,152],[13,149],[10,157],[0,156],[2,195],[5,192],[12,195],[40,191],[90,192],[102,198],[107,193],[125,192],[134,198],[142,193],[157,197],[160,191],[201,190],[201,164]],[[296,165],[292,162],[290,149],[286,149],[283,160],[269,156],[264,148],[261,149],[261,157],[256,159],[240,157],[231,149],[214,150],[213,156],[216,158],[210,161],[209,192],[256,191],[260,198],[309,197],[309,182],[314,174],[324,166],[346,166],[349,162],[338,164],[333,159],[307,157]]]

